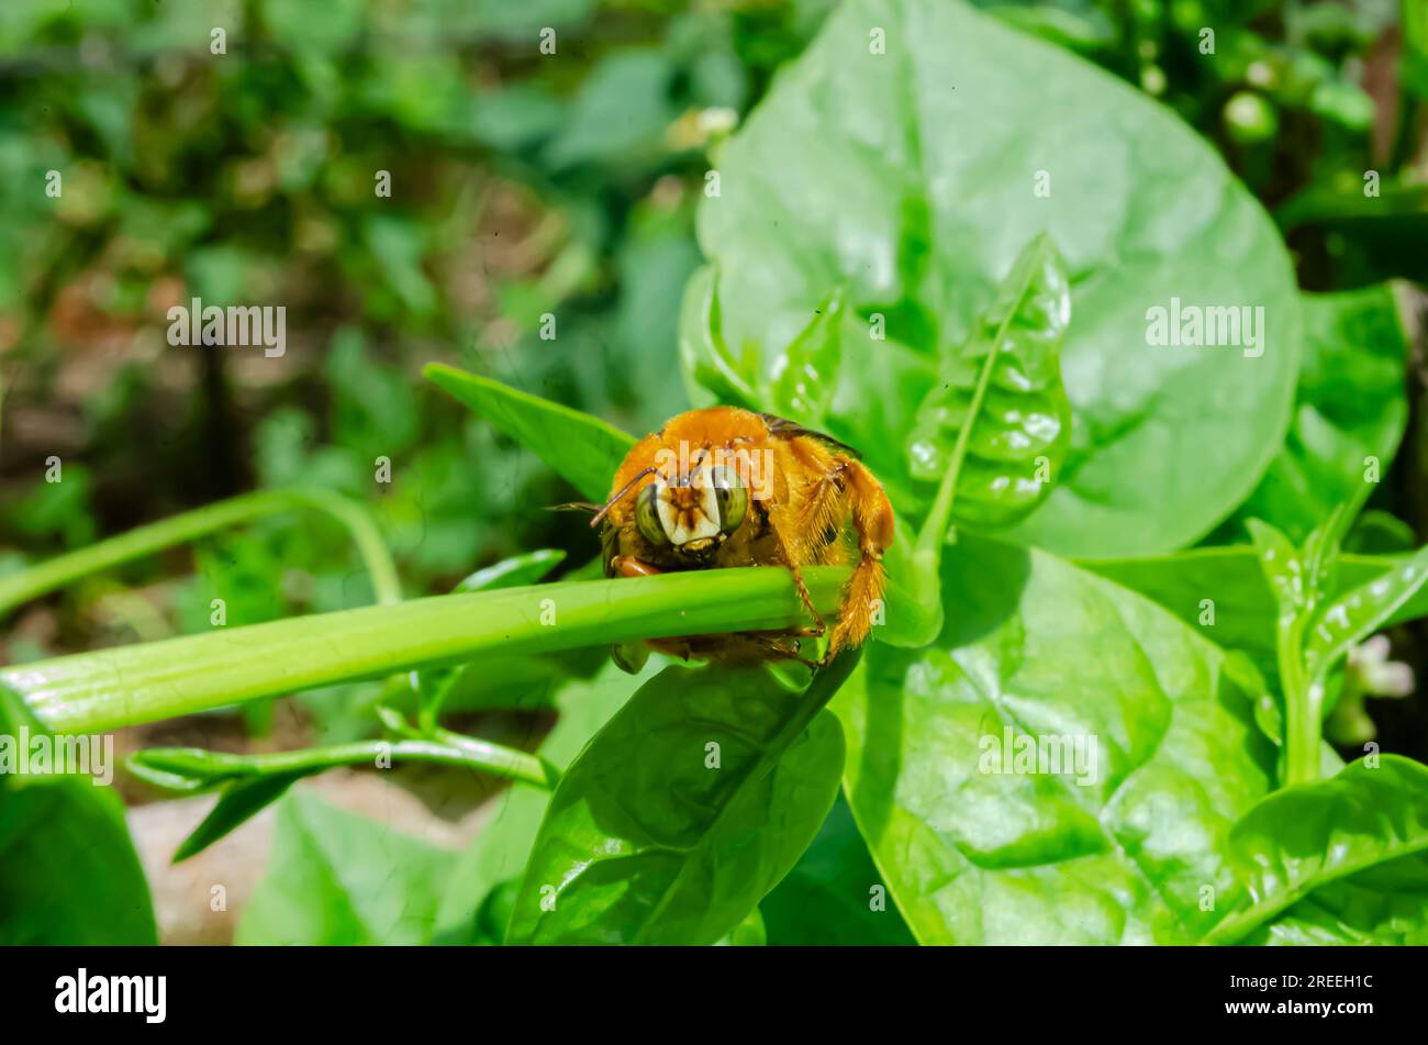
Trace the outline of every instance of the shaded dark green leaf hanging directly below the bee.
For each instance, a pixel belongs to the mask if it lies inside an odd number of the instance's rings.
[[[667,668],[561,779],[508,942],[713,944],[788,872],[843,769],[823,712],[855,657],[791,694],[764,668]]]

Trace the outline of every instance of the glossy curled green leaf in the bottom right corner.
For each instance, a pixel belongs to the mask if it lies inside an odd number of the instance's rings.
[[[1428,767],[1382,755],[1277,791],[1230,845],[1252,902],[1214,942],[1428,944]]]

